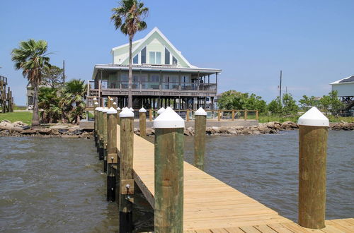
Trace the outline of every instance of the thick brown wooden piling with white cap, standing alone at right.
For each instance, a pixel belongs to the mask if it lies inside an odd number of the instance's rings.
[[[299,225],[321,229],[326,215],[329,119],[312,107],[299,117]]]

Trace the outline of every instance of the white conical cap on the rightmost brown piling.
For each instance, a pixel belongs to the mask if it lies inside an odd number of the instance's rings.
[[[329,126],[329,119],[319,109],[312,107],[297,120],[300,126]]]

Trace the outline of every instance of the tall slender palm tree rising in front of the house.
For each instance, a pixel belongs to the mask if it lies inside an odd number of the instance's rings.
[[[147,28],[147,23],[143,19],[147,16],[149,8],[144,7],[142,1],[122,0],[120,6],[113,8],[112,11],[110,20],[114,21],[115,30],[120,28],[121,32],[129,35],[128,107],[132,107],[132,40],[136,32]]]

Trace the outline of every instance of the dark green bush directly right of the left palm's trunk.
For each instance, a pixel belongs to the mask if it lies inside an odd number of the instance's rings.
[[[59,90],[57,88],[41,87],[38,93],[38,107],[43,109],[40,112],[41,121],[45,123],[57,122],[62,115],[62,108],[59,106]]]

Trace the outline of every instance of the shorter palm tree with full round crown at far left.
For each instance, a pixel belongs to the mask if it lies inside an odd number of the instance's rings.
[[[42,69],[50,67],[50,58],[47,57],[47,42],[45,40],[20,42],[18,49],[11,52],[12,61],[15,61],[16,70],[22,69],[23,77],[27,78],[33,87],[33,117],[32,126],[40,125],[38,114],[38,85],[42,81]]]

